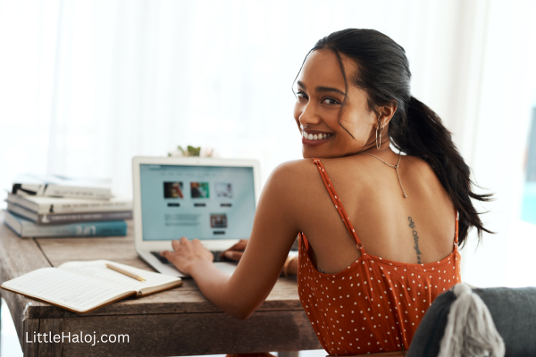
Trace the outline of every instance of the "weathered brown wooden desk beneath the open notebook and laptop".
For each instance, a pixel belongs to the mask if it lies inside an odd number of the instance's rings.
[[[131,224],[128,237],[21,239],[4,225],[2,212],[0,222],[0,284],[31,270],[71,261],[107,259],[151,270],[138,259]],[[201,295],[191,279],[172,290],[122,300],[87,314],[0,292],[27,357],[176,356],[322,348],[299,303],[295,279],[280,278],[248,320],[223,313]],[[128,335],[129,343],[28,343],[26,337],[28,333],[32,340],[34,332],[72,336],[80,331],[83,335]]]

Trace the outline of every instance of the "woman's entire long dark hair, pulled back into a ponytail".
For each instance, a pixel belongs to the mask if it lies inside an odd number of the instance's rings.
[[[369,110],[378,115],[377,108],[397,103],[397,111],[389,121],[390,141],[399,151],[427,162],[440,179],[459,212],[459,244],[465,244],[470,228],[477,229],[479,240],[482,231],[492,233],[482,226],[480,213],[471,202],[472,198],[490,201],[491,194],[478,195],[473,192],[471,171],[452,142],[451,133],[438,114],[410,94],[411,72],[404,48],[373,29],[343,29],[323,37],[309,54],[320,49],[331,50],[336,54],[345,80],[346,93],[347,73],[344,71],[341,54],[356,62],[358,70],[348,78],[356,87],[366,91]],[[345,102],[346,95],[341,112]]]

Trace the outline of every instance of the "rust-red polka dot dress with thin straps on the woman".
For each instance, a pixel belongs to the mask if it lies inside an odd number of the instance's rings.
[[[331,355],[386,353],[407,349],[433,300],[461,282],[457,250],[439,262],[407,264],[364,250],[322,162],[314,159],[361,257],[347,269],[324,274],[314,268],[306,236],[299,235],[297,288],[323,348]]]

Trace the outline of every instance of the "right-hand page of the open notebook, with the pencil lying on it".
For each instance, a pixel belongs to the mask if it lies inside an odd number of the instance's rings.
[[[138,281],[135,278],[127,277],[118,271],[111,270],[106,267],[106,263],[113,264],[122,270],[127,270],[131,273],[134,273],[142,278],[145,278],[146,281]],[[170,277],[160,273],[130,267],[129,265],[120,264],[118,262],[110,262],[105,260],[90,262],[65,262],[60,265],[58,269],[71,271],[84,277],[96,278],[112,284],[125,286],[136,291],[140,291],[141,289],[151,286],[162,286],[174,281],[180,281],[180,278]]]

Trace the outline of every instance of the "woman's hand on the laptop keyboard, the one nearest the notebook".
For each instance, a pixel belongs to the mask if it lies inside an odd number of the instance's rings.
[[[189,268],[193,263],[214,261],[213,253],[210,253],[199,239],[189,241],[187,237],[181,237],[180,240],[172,241],[172,247],[174,252],[163,251],[160,255],[184,274],[190,275]]]

